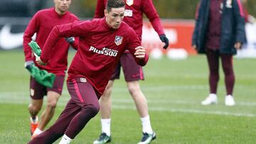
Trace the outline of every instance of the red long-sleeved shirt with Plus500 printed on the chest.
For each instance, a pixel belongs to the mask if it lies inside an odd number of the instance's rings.
[[[134,55],[135,48],[141,45],[139,37],[127,23],[122,22],[114,30],[105,18],[95,18],[92,21],[75,21],[53,28],[43,47],[41,60],[48,62],[58,39],[70,36],[80,39],[78,52],[68,70],[68,81],[75,77],[85,77],[98,96],[103,94],[122,53],[128,49]],[[142,60],[134,56],[134,59],[138,65],[143,66],[149,57],[146,55]]]

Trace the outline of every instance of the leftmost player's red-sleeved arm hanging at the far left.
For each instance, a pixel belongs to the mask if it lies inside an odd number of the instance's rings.
[[[33,64],[33,52],[29,47],[28,43],[31,42],[33,35],[38,31],[40,21],[38,13],[36,13],[31,21],[28,23],[26,30],[23,34],[23,52],[25,55],[25,67],[28,68]]]

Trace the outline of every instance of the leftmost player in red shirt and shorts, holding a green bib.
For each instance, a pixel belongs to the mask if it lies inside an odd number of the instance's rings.
[[[48,38],[51,29],[54,26],[71,23],[78,20],[73,13],[68,11],[70,7],[71,0],[54,0],[54,8],[43,9],[38,11],[31,21],[28,23],[26,31],[23,35],[23,50],[25,54],[25,67],[28,69],[35,62],[35,57],[33,57],[33,52],[28,46],[31,42],[32,36],[36,33],[36,42],[43,48],[43,45]],[[53,87],[44,87],[42,84],[36,82],[33,77],[30,79],[30,96],[31,104],[28,106],[28,111],[31,114],[31,135],[32,138],[43,132],[50,119],[53,117],[55,106],[63,90],[63,82],[65,78],[65,70],[67,69],[67,57],[68,48],[70,43],[73,47],[77,47],[77,41],[73,41],[72,38],[60,38],[58,43],[55,45],[54,55],[50,57],[50,62],[48,65],[41,66],[36,65],[41,70],[46,70],[52,72],[56,75]],[[73,43],[74,42],[74,43]],[[43,96],[47,95],[47,105],[46,109],[41,114],[41,121],[38,122],[38,112],[41,110],[43,105]]]

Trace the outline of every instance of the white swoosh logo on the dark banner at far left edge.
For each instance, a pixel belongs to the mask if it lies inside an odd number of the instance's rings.
[[[0,31],[0,48],[11,50],[21,47],[23,44],[23,33],[11,33],[11,26],[5,24]]]

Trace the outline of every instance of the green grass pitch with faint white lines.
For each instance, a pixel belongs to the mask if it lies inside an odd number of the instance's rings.
[[[74,52],[70,53],[70,57]],[[0,51],[0,143],[27,143],[28,72],[22,51]],[[146,95],[151,125],[157,139],[153,144],[169,143],[256,143],[256,60],[234,59],[236,105],[224,106],[225,86],[220,69],[219,104],[201,106],[208,95],[206,57],[193,56],[173,61],[166,57],[150,60],[144,67]],[[66,87],[60,98],[55,121],[69,99]],[[142,126],[124,78],[115,82],[112,111],[112,143],[139,142]],[[73,140],[92,143],[100,134],[99,114]],[[57,143],[57,142],[56,142]]]

